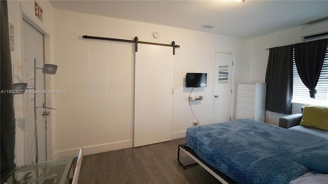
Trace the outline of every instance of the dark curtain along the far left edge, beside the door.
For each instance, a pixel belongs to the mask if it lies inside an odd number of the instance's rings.
[[[9,46],[7,1],[0,1],[1,7],[1,91],[12,88],[12,72]],[[15,115],[13,95],[1,93],[1,179],[15,167]]]

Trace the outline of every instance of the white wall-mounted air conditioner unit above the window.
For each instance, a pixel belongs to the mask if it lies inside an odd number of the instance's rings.
[[[328,38],[328,20],[302,27],[301,37],[303,41]]]

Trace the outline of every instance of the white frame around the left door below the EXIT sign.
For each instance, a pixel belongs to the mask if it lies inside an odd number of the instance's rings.
[[[50,63],[47,61],[51,61],[51,43],[53,41],[51,40],[53,35],[51,35],[50,31],[45,27],[44,24],[40,24],[40,20],[37,19],[36,16],[30,11],[30,9],[26,8],[21,2],[19,3],[20,6],[20,35],[21,35],[21,40],[22,40],[22,51],[21,51],[21,56],[22,56],[22,66],[23,69],[25,68],[24,66],[24,43],[23,43],[23,21],[28,22],[35,30],[43,34],[43,39],[44,39],[44,63]],[[22,71],[24,72],[24,71]],[[23,80],[27,81],[27,79],[24,78],[23,75]],[[48,82],[46,82],[48,81]],[[48,85],[47,85],[48,84]],[[49,86],[53,86],[53,82],[50,78],[49,75],[45,75],[45,89],[49,88]],[[51,101],[53,101],[50,98],[50,95],[45,95],[45,106],[51,106]],[[25,102],[25,99],[23,97],[23,102]],[[25,105],[24,105],[24,112],[25,112]],[[25,119],[25,114],[23,114],[23,118]],[[46,159],[54,159],[54,128],[53,124],[51,123],[51,120],[54,119],[54,113],[50,113],[49,116],[46,118],[47,122],[47,129],[46,129]],[[26,158],[25,158],[26,159]]]

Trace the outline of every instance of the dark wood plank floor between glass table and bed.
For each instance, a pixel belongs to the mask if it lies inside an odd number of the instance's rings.
[[[177,150],[183,143],[184,138],[84,156],[78,183],[220,183],[199,165],[179,165]],[[185,153],[180,158],[193,162]]]

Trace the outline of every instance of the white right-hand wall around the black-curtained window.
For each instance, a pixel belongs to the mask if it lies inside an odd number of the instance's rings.
[[[250,76],[249,81],[265,82],[265,73],[269,58],[269,48],[280,47],[302,42],[301,27],[276,32],[250,40]],[[301,113],[304,104],[293,103],[292,113]],[[286,114],[266,111],[265,122],[273,125],[279,124],[279,118]]]

